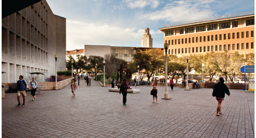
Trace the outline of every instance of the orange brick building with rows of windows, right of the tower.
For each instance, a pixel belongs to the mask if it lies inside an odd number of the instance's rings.
[[[165,25],[168,54],[178,57],[229,50],[255,53],[255,11]]]

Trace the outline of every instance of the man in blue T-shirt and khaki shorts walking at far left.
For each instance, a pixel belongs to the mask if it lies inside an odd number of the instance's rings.
[[[22,106],[25,106],[25,96],[26,95],[26,89],[27,89],[27,83],[25,80],[23,80],[23,76],[19,77],[20,81],[17,81],[17,99],[18,99],[18,105],[17,106],[21,106],[20,104],[20,96],[22,95],[23,97],[23,104]]]

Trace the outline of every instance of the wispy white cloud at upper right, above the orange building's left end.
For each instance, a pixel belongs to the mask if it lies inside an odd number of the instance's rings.
[[[147,13],[143,19],[151,21],[184,22],[209,18],[214,12],[209,10],[209,4],[218,2],[215,0],[181,0],[171,1],[170,4],[159,11]]]

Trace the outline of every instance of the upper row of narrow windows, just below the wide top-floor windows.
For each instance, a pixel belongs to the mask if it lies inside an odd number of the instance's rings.
[[[223,34],[223,39],[226,40],[226,34]],[[246,37],[248,38],[249,37],[249,31],[246,32]],[[254,37],[254,31],[251,31],[251,37]],[[208,35],[207,36],[207,41],[214,41],[214,38],[215,40],[217,41],[218,40],[218,35],[216,34],[215,37],[214,35]],[[236,33],[236,36],[235,36],[235,33],[232,33],[232,38],[235,39],[235,38],[240,38],[240,32]],[[241,38],[244,38],[244,32],[241,32]],[[229,33],[228,34],[228,39],[231,39],[231,34]],[[219,35],[219,40],[222,40],[222,34]],[[204,37],[199,37],[199,40],[198,40],[198,37],[196,37],[196,43],[198,42],[206,42],[206,36]],[[195,42],[195,38],[193,37],[192,38],[192,43]],[[185,38],[185,44],[187,43],[191,43],[191,38]],[[169,45],[177,45],[177,44],[184,44],[184,39],[178,39],[178,43],[177,43],[177,39],[175,40],[169,40]]]

